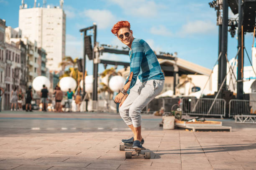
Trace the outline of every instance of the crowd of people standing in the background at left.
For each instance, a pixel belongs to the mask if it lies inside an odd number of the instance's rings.
[[[78,87],[79,88],[79,87]],[[3,100],[3,94],[5,91],[0,87],[0,103]],[[67,97],[67,100],[66,97]],[[56,86],[53,92],[53,96],[49,96],[49,90],[46,85],[43,85],[40,92],[40,102],[39,107],[37,106],[36,110],[42,111],[55,111],[55,112],[63,112],[63,111],[72,111],[72,101],[74,98],[74,102],[77,106],[76,111],[80,111],[80,105],[82,102],[81,90],[80,88],[77,90],[76,94],[69,89],[67,92],[61,91],[59,86]],[[36,101],[33,98],[33,90],[32,87],[29,86],[26,92],[24,93],[21,88],[14,87],[11,91],[10,97],[10,110],[26,110],[27,112],[32,112],[33,106],[36,105]],[[24,102],[23,102],[24,101]],[[31,102],[33,102],[31,104]],[[24,104],[23,104],[24,103]],[[38,102],[37,102],[38,103]],[[1,111],[1,108],[0,108]]]

